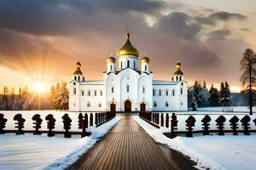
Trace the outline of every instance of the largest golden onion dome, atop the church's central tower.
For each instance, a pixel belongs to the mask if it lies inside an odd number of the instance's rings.
[[[127,31],[126,33],[126,42],[125,45],[122,48],[119,48],[117,51],[117,56],[122,56],[122,55],[134,55],[138,57],[138,51],[137,48],[133,47],[133,45],[130,42],[130,33]]]

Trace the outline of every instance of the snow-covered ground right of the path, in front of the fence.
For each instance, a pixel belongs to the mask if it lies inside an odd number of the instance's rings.
[[[251,136],[195,136],[167,138],[162,129],[155,128],[138,116],[133,118],[156,141],[190,156],[198,168],[253,170],[256,167],[256,133]]]

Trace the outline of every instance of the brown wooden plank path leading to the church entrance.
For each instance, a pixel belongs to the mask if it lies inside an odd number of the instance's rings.
[[[193,162],[157,144],[131,116],[118,124],[69,169],[194,169]]]

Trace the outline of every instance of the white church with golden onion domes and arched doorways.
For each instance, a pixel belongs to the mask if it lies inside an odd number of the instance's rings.
[[[170,81],[153,80],[149,58],[139,60],[127,31],[125,45],[115,58],[107,59],[102,81],[86,81],[77,62],[69,84],[69,111],[187,111],[187,82],[181,67],[177,62]]]

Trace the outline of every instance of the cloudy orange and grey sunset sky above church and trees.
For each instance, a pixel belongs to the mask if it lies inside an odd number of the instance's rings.
[[[102,79],[106,59],[125,42],[143,56],[154,79],[241,86],[241,54],[256,51],[255,0],[0,0],[0,88],[69,81],[79,60],[86,80]]]

